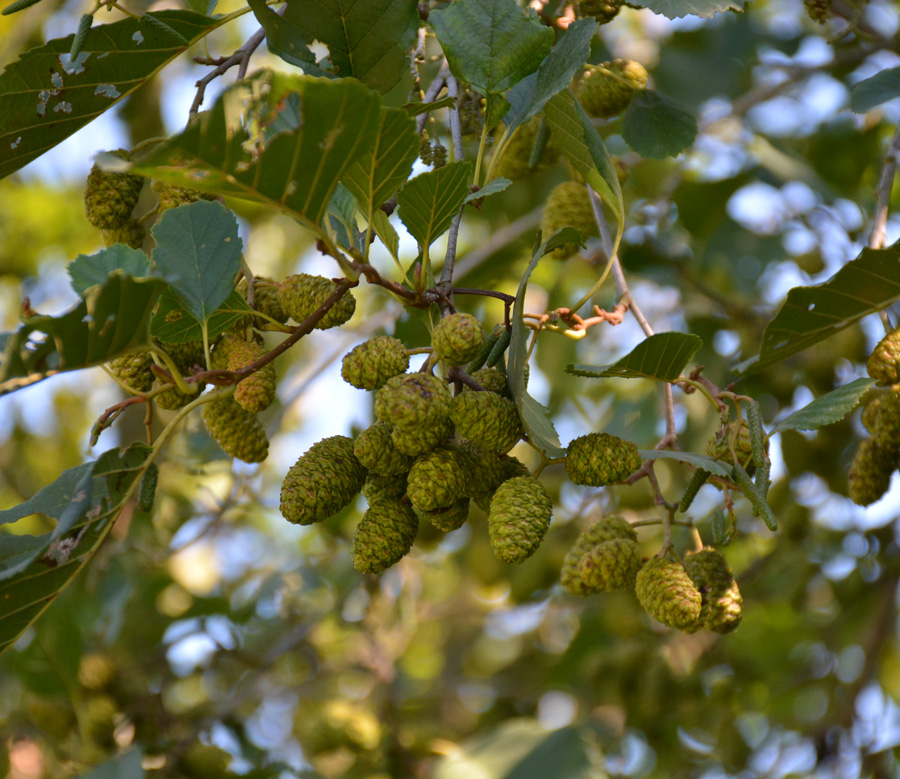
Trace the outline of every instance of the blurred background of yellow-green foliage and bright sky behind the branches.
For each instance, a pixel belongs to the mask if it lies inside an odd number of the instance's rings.
[[[74,29],[82,5],[46,0],[0,17],[0,64]],[[696,144],[676,160],[636,157],[620,120],[600,129],[629,171],[621,256],[634,297],[657,330],[703,338],[697,361],[721,385],[758,351],[789,288],[830,277],[867,240],[900,108],[851,114],[846,84],[900,63],[900,6],[840,7],[828,25],[795,0],[755,0],[746,13],[702,20],[624,8],[595,38],[592,62],[639,60],[656,88],[699,117]],[[239,46],[254,30],[245,21],[211,48]],[[253,65],[266,62],[277,65],[264,52]],[[203,72],[179,60],[114,116],[0,181],[3,330],[16,326],[25,297],[48,313],[72,303],[65,264],[101,246],[81,205],[90,157],[177,130]],[[470,210],[457,283],[514,293],[537,209],[567,176],[556,163]],[[333,275],[302,228],[228,205],[256,273]],[[892,216],[889,242],[898,236]],[[375,262],[390,272],[386,257]],[[576,299],[595,273],[580,257],[542,263],[529,310]],[[473,507],[463,529],[423,527],[409,557],[361,576],[349,541],[362,498],[312,528],[287,525],[277,507],[285,471],[309,445],[372,418],[370,396],[341,382],[340,357],[378,332],[427,343],[419,320],[383,290],[357,292],[347,327],[316,331],[279,360],[280,403],[263,417],[269,460],[232,463],[190,420],[166,451],[152,513],[126,511],[92,564],[0,658],[0,776],[900,776],[900,490],[866,510],[845,497],[864,435],[858,412],[818,433],[773,438],[770,502],[781,531],[769,534],[739,502],[740,533],[726,554],[744,620],[727,637],[662,629],[632,594],[582,601],[561,589],[562,559],[592,518],[657,516],[646,482],[581,488],[561,466],[542,476],[553,526],[523,565],[497,561]],[[614,305],[611,287],[597,302]],[[487,327],[502,319],[497,301],[462,307]],[[771,423],[864,375],[880,328],[850,328],[738,390]],[[654,445],[665,429],[658,386],[563,372],[573,361],[610,362],[641,338],[630,320],[577,342],[542,336],[531,389],[564,444],[609,431]],[[89,459],[90,426],[118,392],[95,369],[0,400],[0,506]],[[716,415],[697,396],[678,401],[680,443],[702,451]],[[143,434],[142,414],[130,411],[100,445]],[[524,445],[515,453],[537,464]],[[668,464],[657,473],[677,500],[689,474]],[[707,542],[716,500],[707,486],[692,509]],[[38,532],[42,521],[21,529]],[[676,543],[689,547],[680,532]],[[645,528],[641,541],[652,555],[661,534]]]

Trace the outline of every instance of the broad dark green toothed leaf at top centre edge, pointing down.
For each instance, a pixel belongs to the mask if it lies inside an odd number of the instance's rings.
[[[515,86],[553,46],[553,31],[515,0],[456,0],[428,21],[453,75],[484,95]]]

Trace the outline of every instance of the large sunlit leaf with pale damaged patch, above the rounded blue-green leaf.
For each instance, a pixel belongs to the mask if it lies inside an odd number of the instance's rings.
[[[354,79],[260,71],[134,169],[287,211],[321,236],[338,181],[377,139],[380,102]]]

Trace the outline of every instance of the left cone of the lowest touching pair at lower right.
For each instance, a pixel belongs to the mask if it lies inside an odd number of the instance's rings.
[[[703,598],[681,563],[651,558],[638,572],[635,592],[644,611],[657,622],[685,633],[703,627]]]

